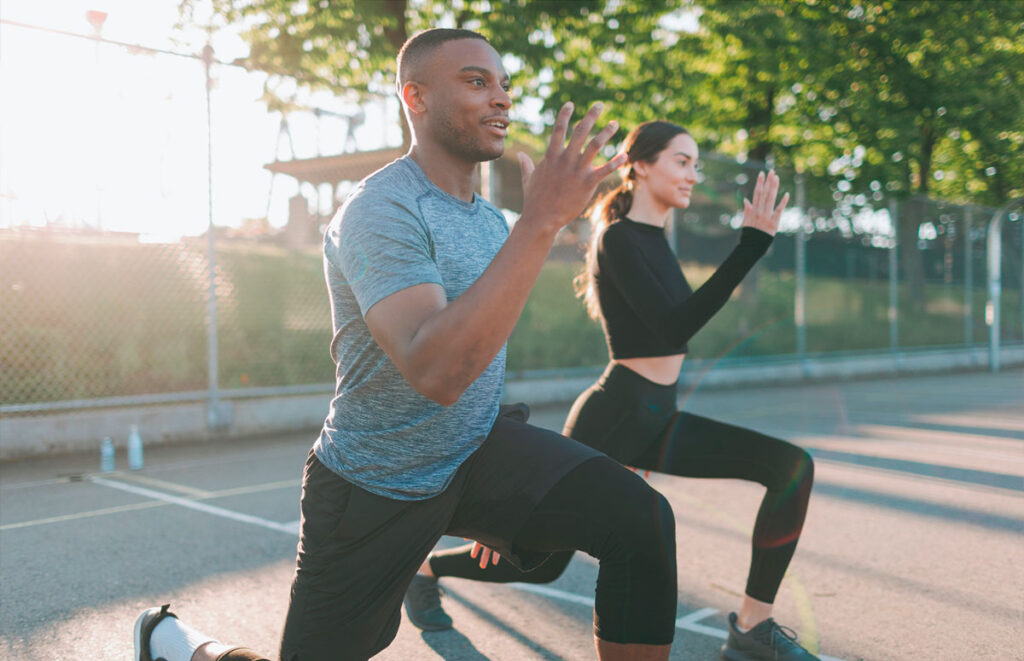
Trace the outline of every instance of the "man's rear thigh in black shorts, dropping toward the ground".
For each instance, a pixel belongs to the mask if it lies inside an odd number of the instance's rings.
[[[367,659],[386,648],[416,569],[451,520],[456,490],[392,500],[350,484],[310,454],[282,661]]]

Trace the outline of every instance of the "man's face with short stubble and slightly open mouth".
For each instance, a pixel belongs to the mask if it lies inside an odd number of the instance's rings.
[[[432,139],[473,163],[501,157],[512,101],[498,52],[480,39],[457,39],[441,44],[428,65],[425,128]]]

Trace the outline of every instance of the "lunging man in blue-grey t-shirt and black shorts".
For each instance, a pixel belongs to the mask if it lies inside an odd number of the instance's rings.
[[[600,561],[598,656],[668,658],[668,502],[603,454],[525,424],[518,409],[499,410],[505,343],[554,237],[623,162],[593,165],[616,129],[587,142],[599,106],[566,145],[566,104],[544,159],[535,167],[520,157],[525,202],[510,232],[473,191],[477,164],[504,149],[507,88],[482,36],[430,30],[410,39],[398,91],[412,148],[364,180],[327,229],[338,386],[306,462],[286,661],[366,659],[386,648],[406,589],[442,534],[479,540],[522,568],[552,550],[586,550]],[[161,655],[262,658],[212,642],[166,607],[136,623],[136,658]]]

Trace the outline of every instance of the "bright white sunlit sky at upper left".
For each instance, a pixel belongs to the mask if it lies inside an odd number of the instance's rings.
[[[200,33],[174,30],[178,0],[3,0],[0,17],[92,35],[86,11],[106,12],[102,36],[182,53],[198,53]],[[213,39],[230,60],[246,47],[233,34]],[[280,115],[259,100],[264,76],[214,67],[213,218],[238,226],[246,218],[287,220],[298,186],[263,169],[275,153]],[[205,78],[199,60],[139,54],[90,40],[0,25],[0,228],[70,226],[140,232],[173,240],[206,230],[207,126]],[[318,95],[306,101],[335,112],[354,109]],[[366,113],[355,133],[361,149],[400,142],[397,102]],[[381,122],[380,118],[391,118]],[[290,118],[298,158],[337,153],[344,120]],[[272,193],[272,194],[271,194]],[[307,197],[315,197],[310,187]],[[326,191],[325,191],[326,193]],[[333,204],[324,195],[322,212]],[[268,213],[269,208],[269,213]]]

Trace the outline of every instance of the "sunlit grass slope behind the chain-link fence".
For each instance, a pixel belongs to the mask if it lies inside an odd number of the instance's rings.
[[[218,384],[330,383],[331,315],[318,251],[225,245],[217,255]],[[580,266],[550,261],[509,341],[509,370],[597,366],[600,325],[572,294]],[[0,401],[5,404],[201,390],[207,387],[207,261],[200,244],[0,239]],[[711,267],[686,264],[699,285]],[[748,279],[743,287],[751,288]],[[695,357],[796,352],[792,272],[758,275],[690,342]],[[962,289],[901,291],[901,347],[964,342]],[[974,340],[987,338],[985,293]],[[889,346],[887,282],[807,278],[810,352]],[[1006,292],[1002,337],[1020,340],[1020,294]]]

